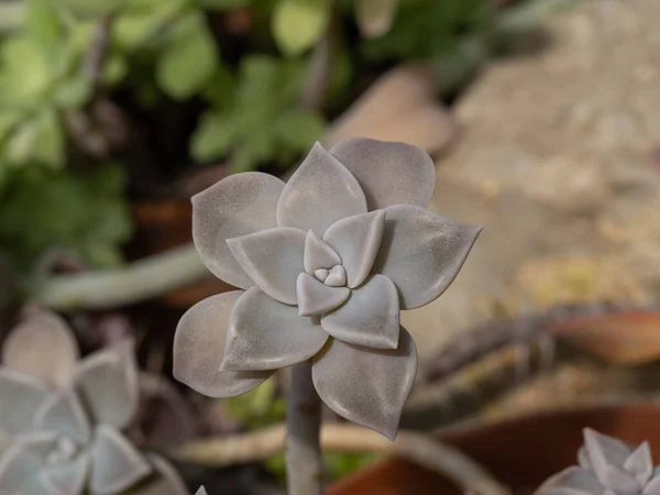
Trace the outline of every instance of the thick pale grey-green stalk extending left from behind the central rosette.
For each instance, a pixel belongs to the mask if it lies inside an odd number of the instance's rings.
[[[161,296],[208,276],[193,244],[123,268],[57,275],[29,287],[30,299],[57,311],[106,309]]]

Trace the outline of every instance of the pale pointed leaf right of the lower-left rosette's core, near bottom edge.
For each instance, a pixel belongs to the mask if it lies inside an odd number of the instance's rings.
[[[112,495],[131,487],[152,472],[140,451],[116,429],[100,425],[91,449],[89,487],[99,495]]]

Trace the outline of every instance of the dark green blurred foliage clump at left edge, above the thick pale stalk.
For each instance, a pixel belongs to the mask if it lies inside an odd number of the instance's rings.
[[[131,219],[120,167],[81,175],[31,168],[15,175],[0,194],[0,246],[19,266],[30,268],[52,249],[76,252],[95,266],[121,261]]]

